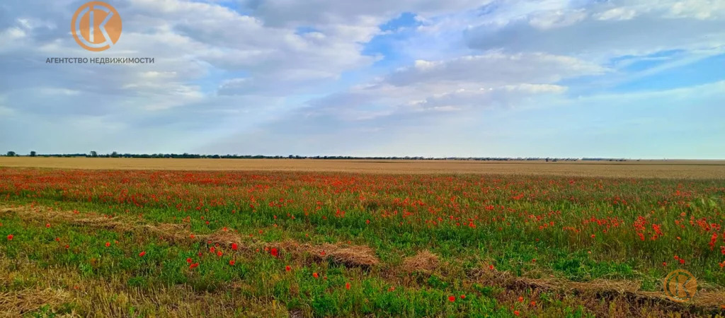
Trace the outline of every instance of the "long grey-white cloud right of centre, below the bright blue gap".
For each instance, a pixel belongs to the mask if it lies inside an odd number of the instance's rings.
[[[492,52],[441,61],[416,61],[368,85],[310,102],[304,112],[339,120],[427,116],[436,112],[511,108],[565,93],[560,80],[601,75],[604,67],[550,54]]]

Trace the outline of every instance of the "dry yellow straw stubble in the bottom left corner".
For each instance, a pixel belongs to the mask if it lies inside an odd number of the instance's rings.
[[[0,293],[0,317],[22,317],[41,306],[61,304],[74,309],[57,317],[81,317],[78,311],[85,317],[239,317],[236,309],[244,309],[244,317],[289,317],[283,304],[245,298],[239,287],[226,286],[218,293],[196,293],[183,285],[142,291],[128,288],[127,278],[89,279],[68,268],[40,268],[28,260],[0,257],[0,283],[33,285]]]

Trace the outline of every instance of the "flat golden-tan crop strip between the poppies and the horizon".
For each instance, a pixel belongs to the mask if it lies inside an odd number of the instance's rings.
[[[725,179],[725,161],[480,162],[444,160],[123,159],[0,157],[0,167],[91,170],[258,170],[355,173],[473,173]]]

